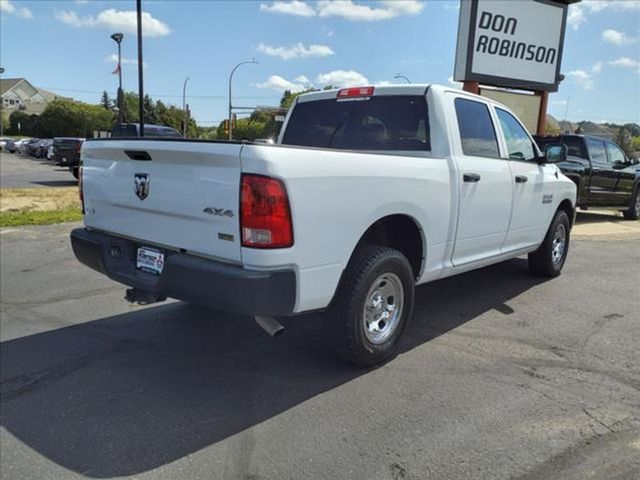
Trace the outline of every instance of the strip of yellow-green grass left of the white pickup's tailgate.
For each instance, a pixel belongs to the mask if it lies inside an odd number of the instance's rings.
[[[77,187],[0,189],[0,228],[81,219]]]

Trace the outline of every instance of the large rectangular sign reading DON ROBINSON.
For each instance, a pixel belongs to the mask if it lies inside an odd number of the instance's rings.
[[[556,91],[566,1],[462,0],[454,79]]]

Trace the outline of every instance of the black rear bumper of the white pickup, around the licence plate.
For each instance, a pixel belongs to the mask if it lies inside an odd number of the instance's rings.
[[[165,251],[161,275],[136,268],[132,240],[77,228],[71,232],[76,258],[88,267],[130,287],[243,315],[286,315],[293,312],[293,270],[253,271],[235,265]]]

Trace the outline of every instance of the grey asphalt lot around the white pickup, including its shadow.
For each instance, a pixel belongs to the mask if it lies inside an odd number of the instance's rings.
[[[317,315],[272,339],[130,306],[74,260],[73,224],[5,229],[0,475],[640,478],[640,232],[579,221],[559,278],[516,259],[420,287],[403,353],[368,371]]]

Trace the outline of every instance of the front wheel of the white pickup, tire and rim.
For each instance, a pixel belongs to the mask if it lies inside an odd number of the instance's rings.
[[[535,275],[557,277],[562,271],[569,252],[571,223],[563,210],[558,210],[551,221],[542,244],[529,254],[529,270]],[[560,249],[559,243],[562,242]]]

